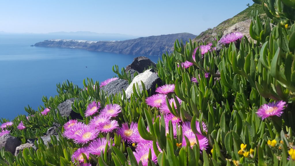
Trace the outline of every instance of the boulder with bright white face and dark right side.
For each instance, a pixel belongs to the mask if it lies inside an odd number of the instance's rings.
[[[160,85],[162,80],[158,77],[158,75],[154,72],[153,69],[146,70],[143,73],[138,74],[132,80],[131,84],[125,90],[127,99],[130,99],[131,94],[133,93],[133,84],[136,85],[138,83],[140,91],[142,91],[141,82],[145,84],[145,89],[149,91],[151,89],[152,94],[154,94],[156,90],[156,84]]]

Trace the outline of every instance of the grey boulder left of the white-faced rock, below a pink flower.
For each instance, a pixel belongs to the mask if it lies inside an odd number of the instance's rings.
[[[101,87],[102,90],[104,90],[104,92],[108,92],[108,95],[115,95],[116,93],[121,92],[121,94],[123,93],[122,89],[126,90],[127,87],[129,86],[128,81],[124,80],[124,79],[117,79],[115,81],[112,81],[108,84],[106,84],[106,86]]]

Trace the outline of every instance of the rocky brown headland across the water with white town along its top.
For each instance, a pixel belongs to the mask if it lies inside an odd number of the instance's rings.
[[[79,48],[90,51],[104,51],[128,55],[162,55],[166,51],[173,51],[175,40],[188,41],[196,38],[190,33],[141,37],[124,41],[87,41],[87,40],[45,40],[36,43],[40,47]]]

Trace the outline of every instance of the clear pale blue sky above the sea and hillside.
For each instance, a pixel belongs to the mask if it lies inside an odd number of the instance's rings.
[[[252,0],[9,0],[0,1],[0,31],[91,31],[134,36],[199,35]]]

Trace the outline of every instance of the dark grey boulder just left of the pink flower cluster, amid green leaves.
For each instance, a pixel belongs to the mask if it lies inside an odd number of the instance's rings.
[[[74,103],[75,98],[71,98],[68,100],[65,100],[64,102],[60,103],[57,108],[62,116],[71,116],[72,119],[78,119],[81,118],[81,115],[79,113],[76,113],[72,110],[72,103]]]

